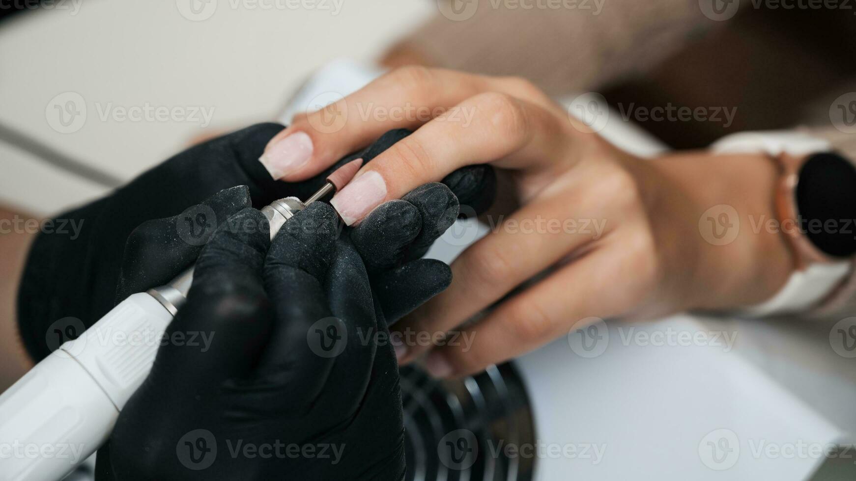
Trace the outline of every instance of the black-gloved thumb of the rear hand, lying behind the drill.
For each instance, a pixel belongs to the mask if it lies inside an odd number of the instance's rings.
[[[163,285],[193,265],[217,227],[250,207],[250,191],[238,185],[219,191],[172,217],[148,220],[125,243],[116,302]]]

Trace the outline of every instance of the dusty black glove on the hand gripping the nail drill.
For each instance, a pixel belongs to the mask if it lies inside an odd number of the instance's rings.
[[[229,226],[244,221],[266,224],[245,209]],[[336,238],[321,202],[272,243],[217,231],[168,330],[212,332],[210,349],[158,350],[98,454],[99,481],[404,477],[395,355],[374,336],[386,322],[360,255]]]

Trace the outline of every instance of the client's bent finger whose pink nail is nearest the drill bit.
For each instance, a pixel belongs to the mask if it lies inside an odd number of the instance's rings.
[[[466,122],[458,112],[471,112]],[[566,126],[543,107],[502,93],[484,93],[450,109],[401,139],[357,173],[330,201],[348,225],[381,203],[459,167],[494,162],[537,171],[573,158]]]

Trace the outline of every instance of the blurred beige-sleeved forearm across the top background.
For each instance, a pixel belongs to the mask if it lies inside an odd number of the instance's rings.
[[[415,60],[474,73],[522,75],[550,94],[562,94],[644,71],[691,35],[721,25],[687,0],[590,0],[555,9],[525,9],[525,3],[479,0],[475,14],[462,21],[436,15],[390,50],[385,63]]]

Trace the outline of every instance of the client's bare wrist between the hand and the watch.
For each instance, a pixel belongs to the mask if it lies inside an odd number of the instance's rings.
[[[774,296],[794,272],[776,216],[776,164],[763,154],[705,152],[654,164],[687,197],[683,229],[694,252],[677,267],[689,269],[687,308],[738,308]]]

